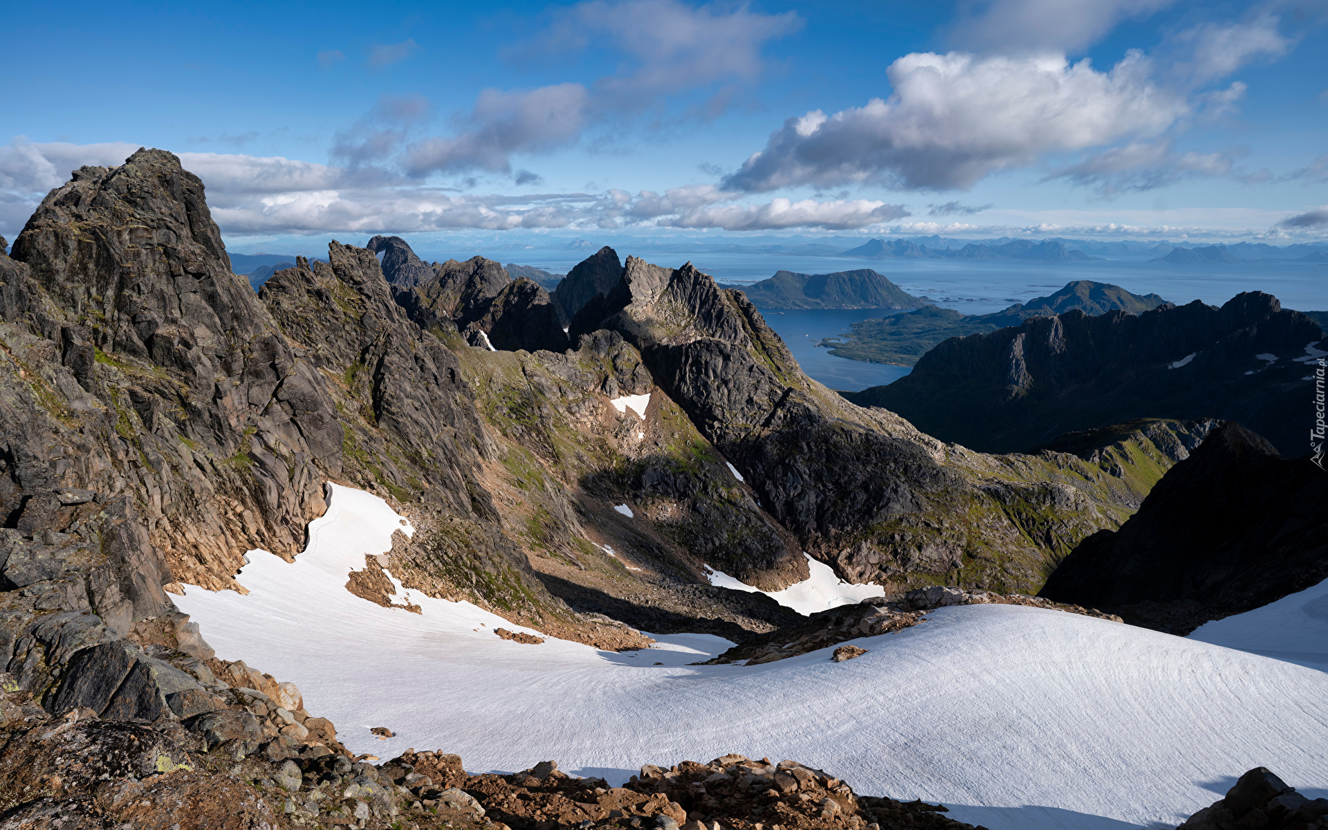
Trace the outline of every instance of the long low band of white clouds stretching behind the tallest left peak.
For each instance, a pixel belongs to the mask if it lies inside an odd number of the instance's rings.
[[[42,194],[86,163],[116,166],[133,143],[68,145],[16,141],[0,147],[0,232],[16,234]],[[333,166],[283,157],[181,153],[181,163],[207,189],[212,218],[228,235],[303,232],[410,232],[448,228],[620,228],[639,224],[724,228],[858,228],[908,215],[882,202],[774,199],[732,205],[741,197],[714,185],[661,193],[469,194],[422,186],[377,167]],[[526,177],[525,181],[522,177]],[[530,171],[514,174],[534,185]]]

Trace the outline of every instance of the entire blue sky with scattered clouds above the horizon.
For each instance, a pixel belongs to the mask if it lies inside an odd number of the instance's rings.
[[[1325,24],[1328,0],[15,4],[0,235],[149,146],[243,252],[1324,239]]]

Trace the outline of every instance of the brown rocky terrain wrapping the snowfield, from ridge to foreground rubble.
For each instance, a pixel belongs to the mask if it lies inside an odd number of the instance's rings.
[[[798,622],[709,586],[705,566],[776,590],[807,576],[803,550],[896,594],[1032,592],[1206,429],[985,456],[815,384],[741,292],[689,264],[619,266],[604,248],[551,296],[483,258],[424,266],[400,240],[371,242],[382,263],[333,242],[327,262],[296,258],[255,295],[202,182],[139,150],[74,171],[0,256],[3,821],[475,815],[456,784],[429,789],[441,772],[405,770],[437,756],[357,766],[297,689],[216,661],[171,602],[183,583],[243,592],[248,550],[300,554],[327,482],[381,495],[414,529],[351,576],[356,596],[385,599],[386,564],[426,596],[631,649],[649,643],[636,628],[741,641]],[[923,806],[863,807],[791,762],[716,764],[659,781],[643,769],[628,789],[752,830],[947,826]],[[774,786],[753,789],[764,777]],[[465,778],[491,794],[486,809],[514,785],[539,791],[497,778]],[[614,798],[586,821],[631,823],[641,799]],[[521,810],[514,826],[550,830]]]

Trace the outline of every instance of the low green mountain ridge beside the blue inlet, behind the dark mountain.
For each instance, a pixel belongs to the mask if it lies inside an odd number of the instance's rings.
[[[1076,280],[1054,293],[989,315],[961,315],[950,308],[927,305],[908,313],[862,320],[853,324],[853,335],[847,341],[827,339],[822,344],[834,345],[830,353],[838,357],[911,367],[928,349],[950,337],[985,335],[1007,325],[1019,325],[1029,317],[1058,315],[1072,308],[1088,315],[1114,309],[1139,313],[1165,301],[1155,293],[1139,296],[1120,286]]]

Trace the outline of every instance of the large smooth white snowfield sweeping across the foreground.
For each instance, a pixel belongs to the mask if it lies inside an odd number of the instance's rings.
[[[254,551],[247,596],[187,587],[177,604],[219,656],[299,684],[357,753],[444,749],[471,772],[554,758],[622,782],[641,764],[740,752],[825,768],[858,793],[942,802],[992,830],[1175,826],[1259,765],[1328,795],[1325,672],[1017,606],[932,611],[853,640],[870,651],[846,663],[823,649],[687,665],[729,645],[708,635],[624,653],[525,645],[493,635],[521,627],[470,603],[412,594],[416,615],[349,594],[345,572],[409,525],[373,495],[329,487],[293,564]]]

